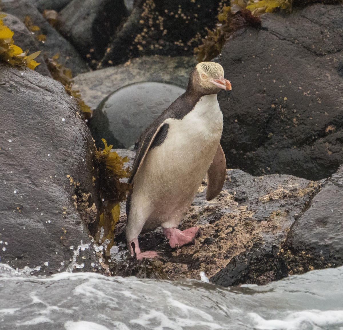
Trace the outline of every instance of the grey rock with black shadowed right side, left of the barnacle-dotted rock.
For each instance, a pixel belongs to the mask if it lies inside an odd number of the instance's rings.
[[[127,15],[123,0],[73,0],[59,13],[59,29],[84,58],[99,60]]]

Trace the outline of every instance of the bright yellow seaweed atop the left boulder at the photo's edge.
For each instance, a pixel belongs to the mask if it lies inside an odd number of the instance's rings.
[[[40,64],[34,60],[40,54],[40,51],[27,55],[28,50],[23,51],[20,47],[14,45],[12,38],[14,32],[3,24],[2,19],[4,17],[6,17],[6,14],[0,14],[0,59],[13,66],[26,66],[34,70]]]

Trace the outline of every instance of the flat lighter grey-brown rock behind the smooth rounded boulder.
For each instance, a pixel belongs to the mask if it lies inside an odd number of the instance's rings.
[[[155,81],[186,88],[193,57],[143,56],[116,67],[79,74],[74,87],[93,110],[109,94],[129,84]]]

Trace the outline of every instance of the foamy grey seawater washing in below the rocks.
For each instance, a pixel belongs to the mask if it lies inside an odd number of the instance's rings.
[[[0,329],[343,330],[343,267],[222,288],[95,273],[35,278],[0,264],[0,297]]]

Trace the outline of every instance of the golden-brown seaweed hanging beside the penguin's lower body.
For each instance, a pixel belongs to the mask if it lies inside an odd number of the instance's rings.
[[[97,149],[95,152],[95,163],[98,170],[100,199],[100,221],[95,240],[104,243],[108,240],[105,253],[109,255],[109,250],[114,244],[114,229],[119,220],[119,203],[127,198],[127,194],[132,189],[131,185],[122,182],[120,179],[130,177],[129,167],[124,168],[124,163],[129,161],[128,157],[120,157],[116,152],[111,152],[113,145],[107,145],[102,139],[105,148]],[[101,228],[104,233],[100,238]]]

